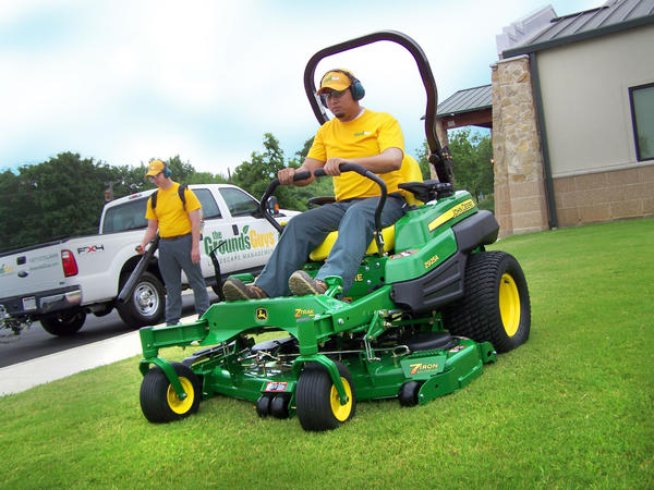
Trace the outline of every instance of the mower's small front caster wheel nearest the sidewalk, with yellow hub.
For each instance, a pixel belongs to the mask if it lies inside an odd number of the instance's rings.
[[[180,400],[164,370],[153,367],[141,382],[141,409],[143,415],[154,424],[180,420],[195,414],[202,396],[199,380],[195,373],[180,363],[171,363],[186,393]]]

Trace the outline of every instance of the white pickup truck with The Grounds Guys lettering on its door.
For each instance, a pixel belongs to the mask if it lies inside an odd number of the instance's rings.
[[[190,185],[202,204],[204,230],[202,270],[207,285],[218,284],[209,253],[216,249],[221,277],[258,272],[268,261],[278,232],[266,221],[259,204],[230,184]],[[157,323],[164,314],[165,290],[158,262],[150,262],[125,303],[117,296],[141,259],[135,246],[147,221],[145,207],[154,189],[108,203],[99,234],[36,245],[0,255],[0,331],[39,320],[55,335],[70,335],[86,315],[109,314],[114,307],[133,327]],[[270,204],[270,203],[269,203]],[[280,223],[298,211],[276,211]],[[182,274],[182,282],[186,278]]]

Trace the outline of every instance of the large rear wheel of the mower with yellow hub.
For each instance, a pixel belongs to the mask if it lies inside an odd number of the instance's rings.
[[[499,353],[529,339],[531,305],[524,272],[505,252],[472,254],[465,266],[464,295],[443,310],[452,335],[491,342]]]

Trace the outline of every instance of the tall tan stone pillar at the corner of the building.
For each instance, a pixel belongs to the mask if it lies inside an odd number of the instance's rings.
[[[546,230],[543,154],[529,57],[500,60],[492,70],[495,217],[499,236]]]

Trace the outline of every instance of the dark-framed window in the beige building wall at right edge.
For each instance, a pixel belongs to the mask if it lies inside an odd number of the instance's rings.
[[[654,84],[629,88],[638,161],[654,159]]]

